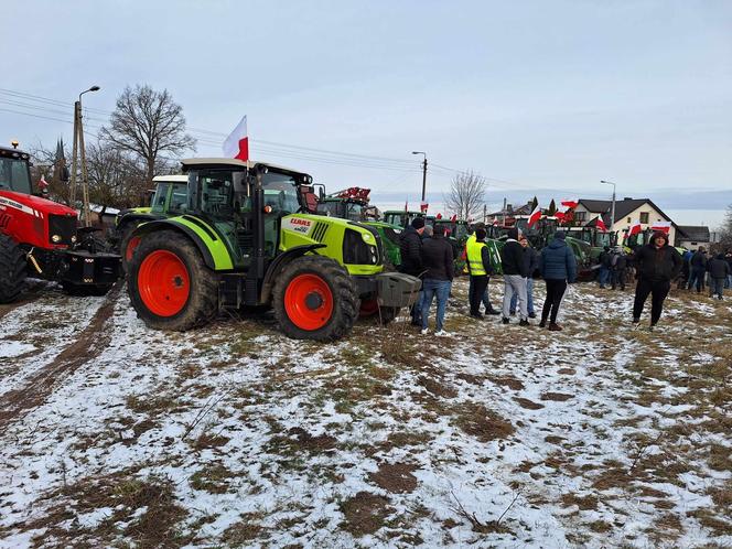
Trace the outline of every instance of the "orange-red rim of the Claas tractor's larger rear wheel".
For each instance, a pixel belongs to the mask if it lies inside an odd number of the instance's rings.
[[[189,270],[172,251],[155,250],[140,265],[138,288],[140,299],[150,312],[158,316],[173,316],[189,301]]]

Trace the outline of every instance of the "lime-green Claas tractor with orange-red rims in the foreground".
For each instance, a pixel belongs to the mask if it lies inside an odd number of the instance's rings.
[[[420,281],[384,272],[378,233],[315,215],[312,179],[236,159],[183,161],[184,211],[139,225],[128,271],[138,315],[184,331],[220,310],[271,306],[282,332],[332,341],[349,333],[360,301],[394,317]]]

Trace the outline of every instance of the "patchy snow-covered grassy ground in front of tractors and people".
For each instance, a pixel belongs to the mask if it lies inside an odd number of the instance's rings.
[[[732,545],[728,302],[675,292],[650,333],[580,284],[552,333],[475,323],[465,282],[444,338],[1,305],[0,547]]]

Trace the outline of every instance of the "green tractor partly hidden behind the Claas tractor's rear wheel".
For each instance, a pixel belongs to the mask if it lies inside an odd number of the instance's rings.
[[[141,223],[165,219],[185,213],[187,207],[187,175],[157,175],[152,179],[155,189],[150,198],[150,206],[122,209],[115,218],[115,240],[122,256],[122,270],[132,259],[132,252],[139,239],[132,239],[132,233]]]

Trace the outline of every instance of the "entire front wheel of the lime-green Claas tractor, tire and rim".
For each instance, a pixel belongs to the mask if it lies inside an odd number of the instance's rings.
[[[288,298],[288,288],[294,292],[295,284],[302,286],[301,276],[310,276],[316,286],[320,286],[319,292],[312,291],[310,295],[321,295],[322,301],[330,302],[331,306],[320,306],[309,309],[306,315],[312,315],[309,319],[313,321],[313,316],[320,313],[321,321],[314,320],[314,324],[322,324],[313,327],[303,326],[303,316],[297,317],[293,314],[294,300],[290,295]],[[308,277],[305,277],[308,278]],[[297,279],[297,280],[295,280]],[[294,283],[293,283],[294,281]],[[306,281],[304,282],[306,287]],[[322,292],[321,292],[322,291]],[[323,297],[323,294],[325,294]],[[289,299],[289,301],[288,301]],[[317,301],[320,298],[315,298]],[[302,306],[304,303],[300,303]],[[337,261],[323,257],[323,256],[302,256],[289,262],[282,272],[277,277],[277,282],[272,291],[272,309],[274,310],[274,317],[280,324],[280,329],[288,337],[295,340],[315,340],[327,342],[338,340],[348,334],[353,329],[353,324],[358,316],[358,295],[356,294],[356,287],[348,276],[348,272],[337,263]],[[288,311],[288,309],[290,311]],[[330,309],[330,313],[327,313]],[[300,323],[300,326],[298,325]]]

